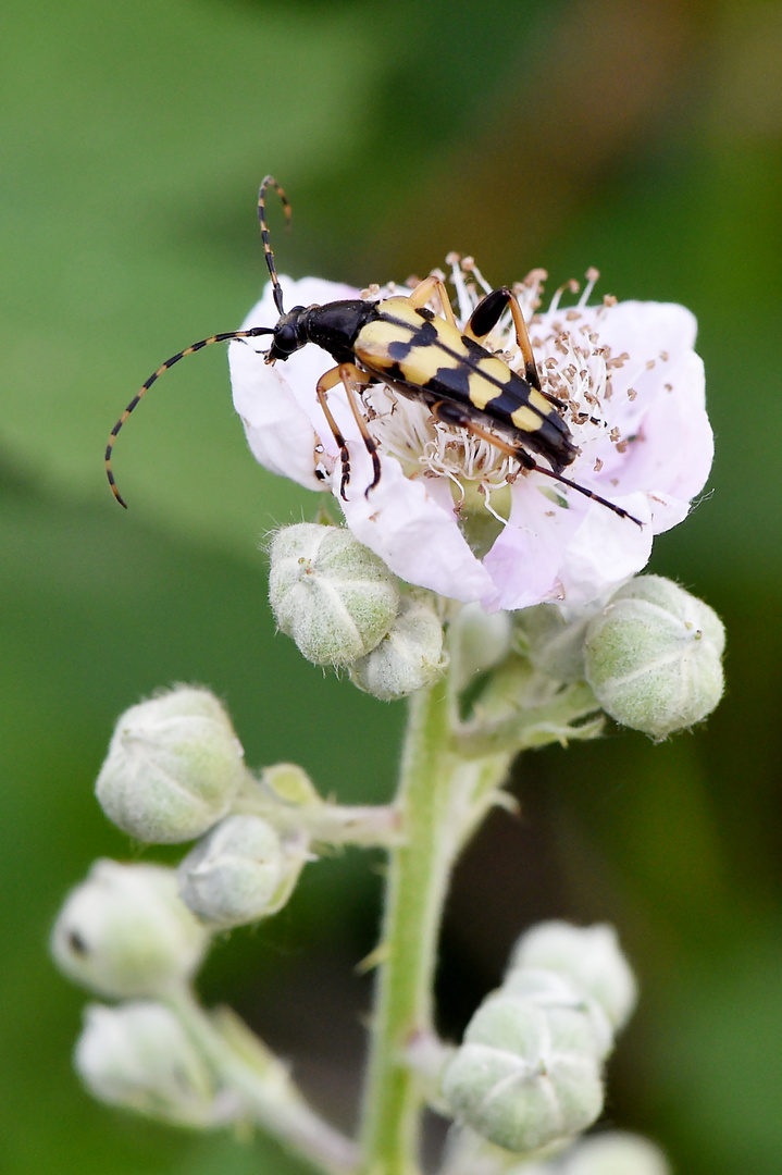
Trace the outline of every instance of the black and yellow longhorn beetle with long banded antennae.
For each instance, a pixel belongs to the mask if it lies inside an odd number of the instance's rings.
[[[459,329],[445,286],[436,276],[425,277],[406,297],[392,296],[375,302],[350,298],[325,306],[296,306],[285,311],[265,217],[265,196],[270,187],[279,195],[289,221],[290,204],[282,187],[268,175],[258,193],[258,220],[279,314],[277,324],[230,330],[202,338],[167,360],[142,384],[112,429],[106,448],[106,472],[121,505],[126,503],[114,481],[112,450],[117,432],[153,383],[186,355],[193,355],[211,343],[271,335],[267,363],[284,361],[308,343],[322,347],[335,360],[336,367],[321,376],[315,390],[339,446],[339,492],[343,498],[350,482],[350,454],[329,408],[329,390],[343,384],[363,443],[372,458],[373,478],[365,490],[369,495],[380,479],[380,461],[360,404],[360,392],[371,384],[384,383],[403,396],[423,401],[441,423],[466,429],[487,441],[513,457],[521,469],[545,474],[641,525],[621,506],[562,476],[562,470],[574,461],[579,450],[560,415],[559,401],[541,389],[521,307],[510,289],[503,287],[487,294],[464,329]],[[434,300],[439,301],[441,317],[427,306]],[[483,345],[508,308],[524,357],[524,376]],[[538,464],[531,450],[544,457],[551,468]]]

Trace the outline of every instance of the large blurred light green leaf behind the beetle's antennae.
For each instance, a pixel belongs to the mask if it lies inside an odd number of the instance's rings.
[[[0,439],[40,482],[96,499],[108,430],[142,380],[238,327],[257,297],[262,175],[295,183],[339,152],[376,49],[349,14],[261,20],[150,0],[132,19],[95,0],[11,4],[0,36],[2,260],[16,275],[0,295]],[[241,243],[216,254],[210,235],[241,210]],[[203,361],[155,389],[122,437],[117,477],[135,509],[177,532],[249,550],[303,496],[258,472],[225,360]]]

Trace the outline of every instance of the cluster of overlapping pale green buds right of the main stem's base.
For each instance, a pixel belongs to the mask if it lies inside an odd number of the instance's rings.
[[[519,1154],[586,1129],[602,1108],[602,1063],[634,1000],[611,927],[532,929],[444,1068],[454,1117]]]

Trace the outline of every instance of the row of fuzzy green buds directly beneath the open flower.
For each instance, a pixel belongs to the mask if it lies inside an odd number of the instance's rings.
[[[386,564],[339,526],[299,523],[271,548],[269,599],[279,629],[316,665],[349,669],[384,701],[431,685],[447,664],[434,597],[400,591]],[[500,665],[511,649],[558,683],[588,683],[595,706],[666,738],[700,721],[722,694],[722,625],[660,576],[638,576],[595,615],[540,604],[514,615],[466,605],[450,618],[451,687]]]

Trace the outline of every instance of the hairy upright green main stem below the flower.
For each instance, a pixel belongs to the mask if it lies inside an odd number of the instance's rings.
[[[423,1090],[405,1052],[433,1028],[440,919],[454,859],[507,757],[467,765],[453,752],[445,683],[412,697],[397,805],[403,844],[390,851],[378,949],[362,1143],[365,1175],[414,1175]]]

